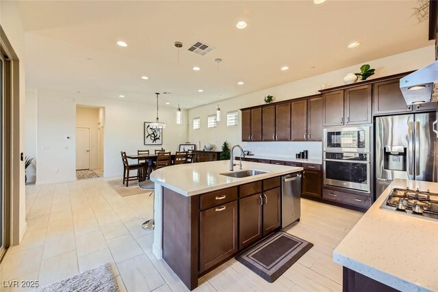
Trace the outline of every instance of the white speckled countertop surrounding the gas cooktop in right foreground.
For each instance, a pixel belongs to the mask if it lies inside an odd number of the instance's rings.
[[[400,291],[438,291],[438,221],[381,209],[396,187],[438,192],[438,183],[394,180],[337,245],[333,261]]]

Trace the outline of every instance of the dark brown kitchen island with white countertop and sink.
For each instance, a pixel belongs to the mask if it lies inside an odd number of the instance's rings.
[[[242,170],[257,172],[233,177]],[[190,290],[200,276],[281,228],[281,176],[302,168],[242,161],[242,170],[237,165],[230,172],[229,161],[211,161],[151,174],[153,254]]]

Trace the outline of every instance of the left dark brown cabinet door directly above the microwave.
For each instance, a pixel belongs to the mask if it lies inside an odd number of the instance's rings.
[[[344,90],[322,94],[322,124],[344,125]]]

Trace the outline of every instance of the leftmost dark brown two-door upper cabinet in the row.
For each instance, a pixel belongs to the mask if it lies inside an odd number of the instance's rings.
[[[261,141],[261,107],[242,110],[242,141]]]

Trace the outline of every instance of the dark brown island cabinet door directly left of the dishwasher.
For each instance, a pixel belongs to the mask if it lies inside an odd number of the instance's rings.
[[[263,193],[263,236],[281,226],[281,189]]]

